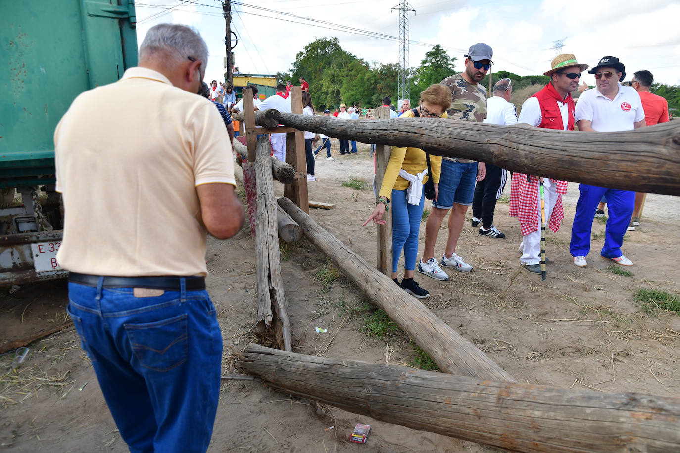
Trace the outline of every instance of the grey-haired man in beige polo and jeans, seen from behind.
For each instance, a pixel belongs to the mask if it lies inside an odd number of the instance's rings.
[[[54,132],[68,311],[131,451],[205,452],[217,410],[206,232],[230,238],[243,209],[222,119],[196,94],[205,62],[199,33],[154,26],[139,67],[78,96]]]

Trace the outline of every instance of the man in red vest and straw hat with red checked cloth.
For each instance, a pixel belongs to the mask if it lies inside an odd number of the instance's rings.
[[[517,123],[558,130],[574,130],[574,100],[571,92],[579,86],[581,71],[588,65],[579,64],[571,54],[557,56],[550,71],[543,73],[550,82],[522,105]],[[510,189],[510,215],[517,217],[522,227],[520,262],[529,272],[541,274],[541,193],[539,178],[545,194],[545,223],[553,232],[560,230],[564,218],[562,194],[566,181],[514,173]]]

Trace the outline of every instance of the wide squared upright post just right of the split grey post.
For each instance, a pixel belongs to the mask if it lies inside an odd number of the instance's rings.
[[[290,107],[292,113],[302,114],[302,91],[299,86],[290,89]],[[295,170],[295,179],[292,184],[286,184],[284,187],[284,196],[309,214],[304,131],[286,133],[286,164]]]

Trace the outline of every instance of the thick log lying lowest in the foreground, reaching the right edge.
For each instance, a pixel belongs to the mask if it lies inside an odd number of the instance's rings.
[[[237,365],[268,385],[515,452],[677,452],[680,399],[479,380],[250,344]]]

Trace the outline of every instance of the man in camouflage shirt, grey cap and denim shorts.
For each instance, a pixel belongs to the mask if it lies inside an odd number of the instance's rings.
[[[452,104],[448,117],[454,120],[483,122],[486,118],[486,90],[479,84],[492,65],[493,51],[484,43],[472,46],[465,58],[465,70],[446,77],[441,84],[451,88]],[[432,201],[432,211],[425,224],[425,247],[418,263],[418,272],[437,280],[448,280],[435,260],[435,242],[441,222],[451,209],[449,237],[441,257],[442,266],[451,266],[461,272],[470,272],[472,266],[456,255],[456,244],[463,229],[465,213],[472,204],[475,182],[486,175],[484,162],[468,159],[443,158],[439,194]]]

